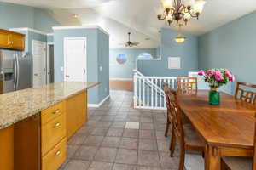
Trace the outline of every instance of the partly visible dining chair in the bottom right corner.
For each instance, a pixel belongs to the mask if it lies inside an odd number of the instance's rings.
[[[221,159],[221,170],[256,170],[256,119],[254,127],[253,157],[224,156]]]

